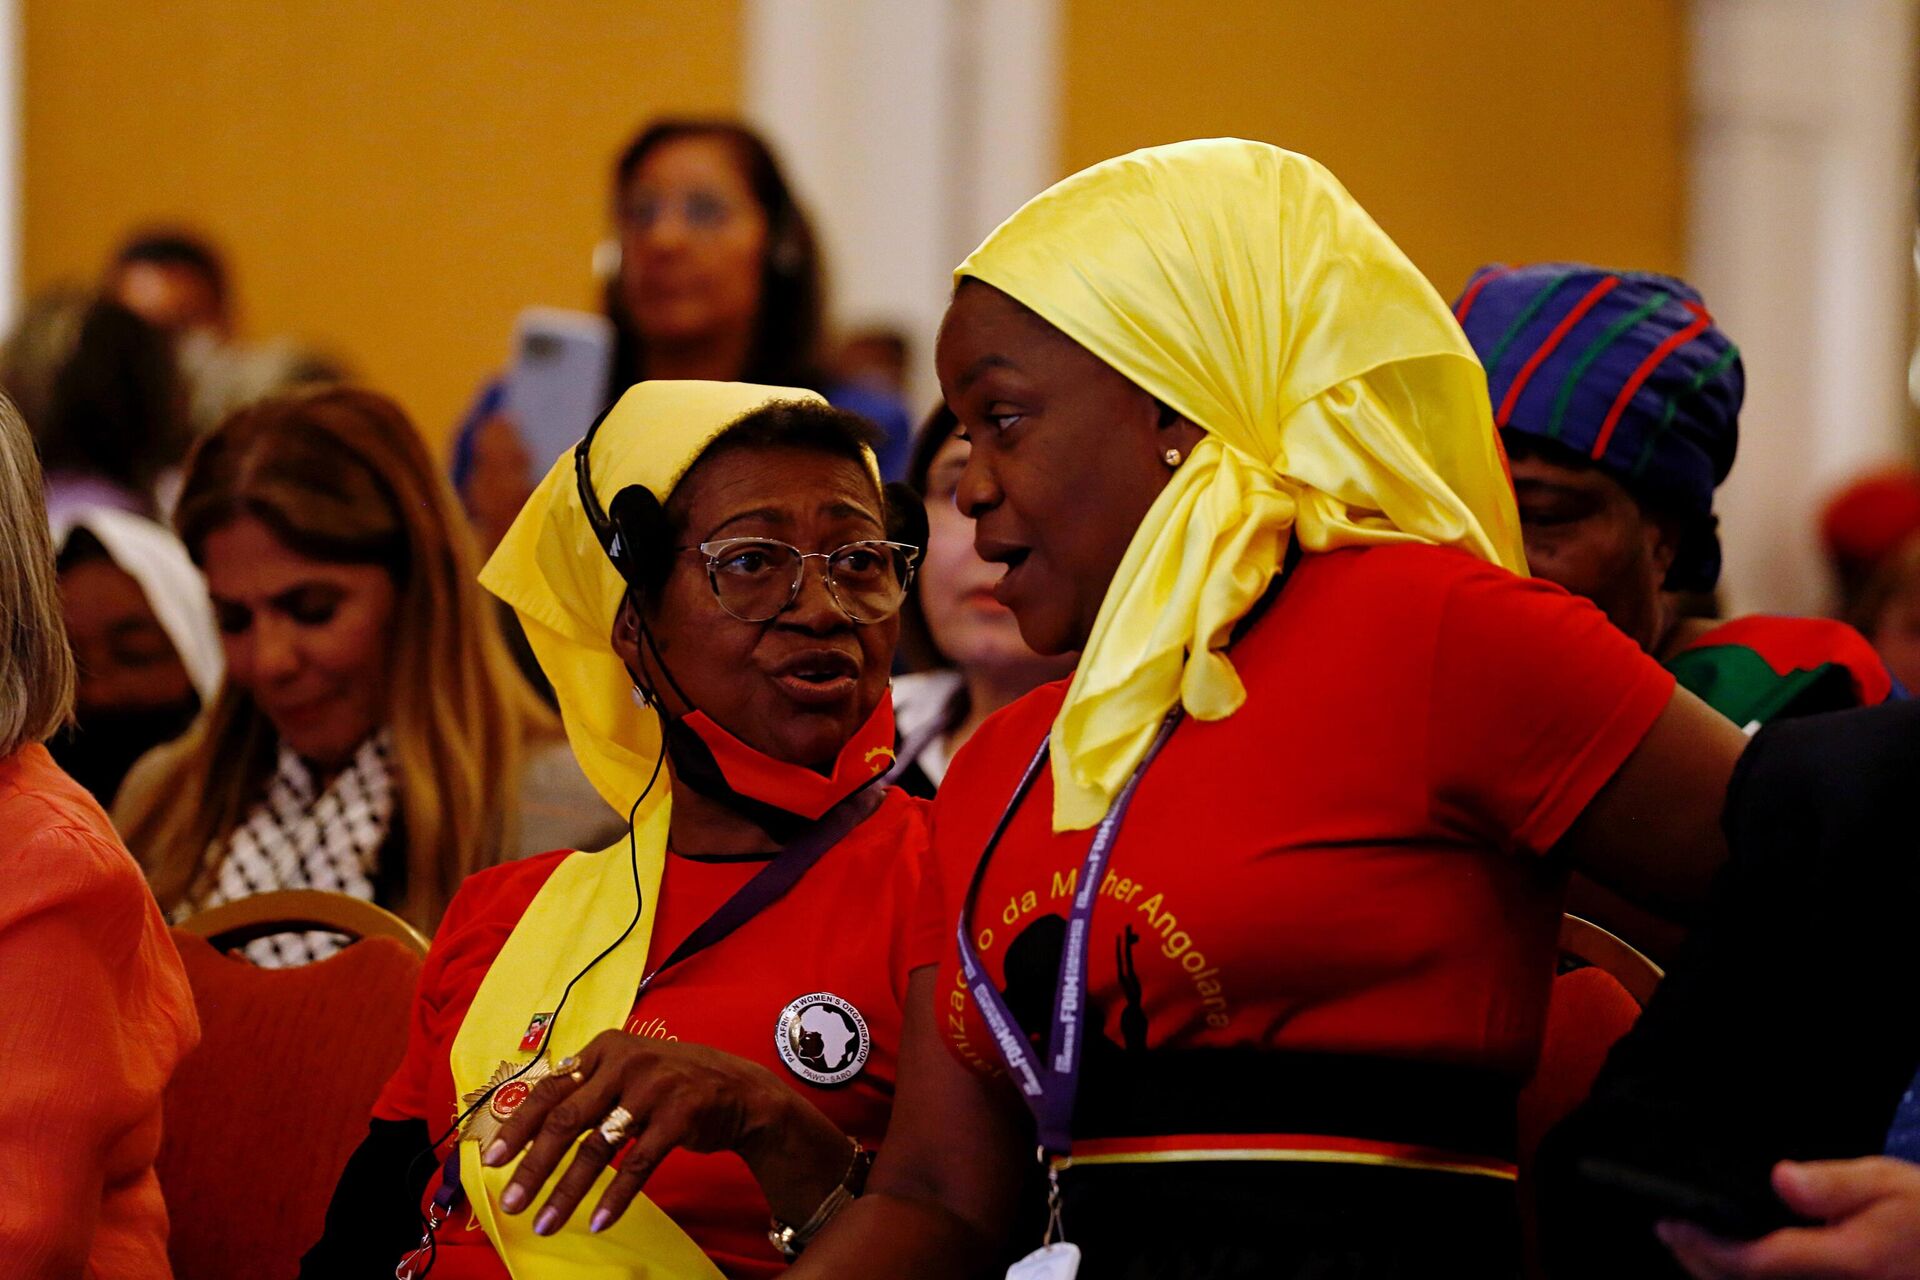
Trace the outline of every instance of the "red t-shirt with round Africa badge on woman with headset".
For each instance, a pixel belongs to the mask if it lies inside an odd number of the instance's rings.
[[[910,908],[920,894],[925,850],[925,802],[902,791],[889,793],[874,816],[808,867],[785,898],[655,979],[626,1029],[695,1040],[756,1061],[801,1090],[845,1132],[877,1148],[893,1107]],[[488,965],[566,856],[541,854],[480,871],[455,894],[420,973],[407,1057],[382,1090],[376,1119],[424,1119],[434,1136],[451,1125],[457,1113],[447,1063],[453,1036]],[[668,956],[762,865],[670,856],[649,952]],[[781,1011],[814,992],[852,1004],[872,1038],[866,1065],[839,1086],[803,1079],[776,1050]],[[447,1151],[444,1144],[440,1155]],[[674,1151],[647,1180],[647,1196],[726,1274],[772,1276],[785,1267],[766,1240],[766,1197],[737,1155]],[[584,1213],[566,1230],[586,1230]],[[440,1230],[434,1274],[503,1280],[507,1267],[470,1213],[461,1211]]]

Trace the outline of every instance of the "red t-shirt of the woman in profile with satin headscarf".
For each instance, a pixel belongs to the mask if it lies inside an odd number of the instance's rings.
[[[1173,731],[1114,844],[1091,921],[1083,1100],[1096,1063],[1156,1050],[1309,1050],[1524,1079],[1565,873],[1517,854],[1559,841],[1667,706],[1672,676],[1590,603],[1421,545],[1306,557],[1233,662],[1246,704]],[[941,965],[950,1050],[991,1075],[1004,1067],[962,981],[954,921],[1064,693],[1046,685],[989,720],[933,810],[937,875],[914,954]],[[1002,990],[1018,948],[1008,1004],[1029,1034],[1050,1019],[1092,839],[1054,835],[1052,798],[1043,770],[968,925]]]

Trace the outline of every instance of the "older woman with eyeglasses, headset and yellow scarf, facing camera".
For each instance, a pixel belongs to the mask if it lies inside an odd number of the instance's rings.
[[[858,1194],[927,848],[876,785],[924,530],[810,391],[645,382],[553,468],[482,583],[630,833],[455,898],[305,1274],[766,1276]]]

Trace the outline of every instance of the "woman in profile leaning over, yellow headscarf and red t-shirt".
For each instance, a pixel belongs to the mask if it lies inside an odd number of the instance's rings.
[[[1020,1274],[1513,1274],[1567,869],[1699,892],[1740,735],[1521,576],[1471,347],[1311,159],[1060,182],[937,359],[1085,656],[950,766],[885,1155],[795,1274],[975,1274],[1035,1150],[1085,1257]]]

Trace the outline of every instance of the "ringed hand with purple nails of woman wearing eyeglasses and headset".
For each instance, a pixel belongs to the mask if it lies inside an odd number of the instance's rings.
[[[599,1126],[614,1107],[634,1119],[628,1142],[611,1146]],[[574,1148],[572,1163],[534,1219],[534,1232],[557,1232],[614,1155],[618,1173],[593,1209],[589,1230],[607,1230],[674,1148],[739,1151],[774,1213],[804,1222],[839,1186],[852,1142],[818,1107],[768,1069],[732,1054],[680,1040],[603,1031],[578,1059],[561,1059],[501,1126],[484,1165],[526,1155],[501,1196],[501,1209],[522,1213]]]

